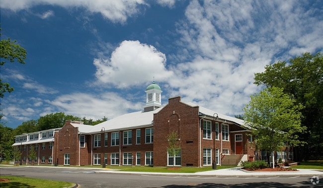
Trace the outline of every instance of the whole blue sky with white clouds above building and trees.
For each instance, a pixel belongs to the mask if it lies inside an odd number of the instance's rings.
[[[265,65],[323,50],[322,0],[1,0],[2,121],[49,113],[111,119],[139,111],[155,78],[169,97],[242,114]]]

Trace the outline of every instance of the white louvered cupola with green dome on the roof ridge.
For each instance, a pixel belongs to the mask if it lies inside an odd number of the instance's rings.
[[[144,111],[152,111],[161,107],[161,87],[155,84],[149,85],[146,89],[146,105]]]

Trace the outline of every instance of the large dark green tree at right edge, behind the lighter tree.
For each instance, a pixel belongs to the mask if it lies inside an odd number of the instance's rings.
[[[293,96],[301,110],[302,125],[306,132],[299,133],[304,146],[294,148],[297,161],[318,160],[323,157],[323,55],[304,53],[289,63],[279,61],[267,65],[263,73],[256,73],[254,84],[283,88],[285,94]]]

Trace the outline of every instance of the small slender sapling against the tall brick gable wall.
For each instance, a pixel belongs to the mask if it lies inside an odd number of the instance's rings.
[[[169,164],[173,164],[173,168],[175,167],[175,157],[176,155],[180,154],[180,146],[179,146],[179,139],[178,139],[178,133],[177,131],[172,131],[166,136],[167,142],[168,142],[168,147],[167,147],[167,152],[168,152],[168,159],[169,159]],[[172,160],[171,160],[172,159]]]

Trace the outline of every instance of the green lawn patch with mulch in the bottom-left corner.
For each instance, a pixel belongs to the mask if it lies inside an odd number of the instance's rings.
[[[8,182],[0,182],[1,188],[71,188],[74,183],[25,178],[17,176],[0,176],[0,179],[7,179]]]

